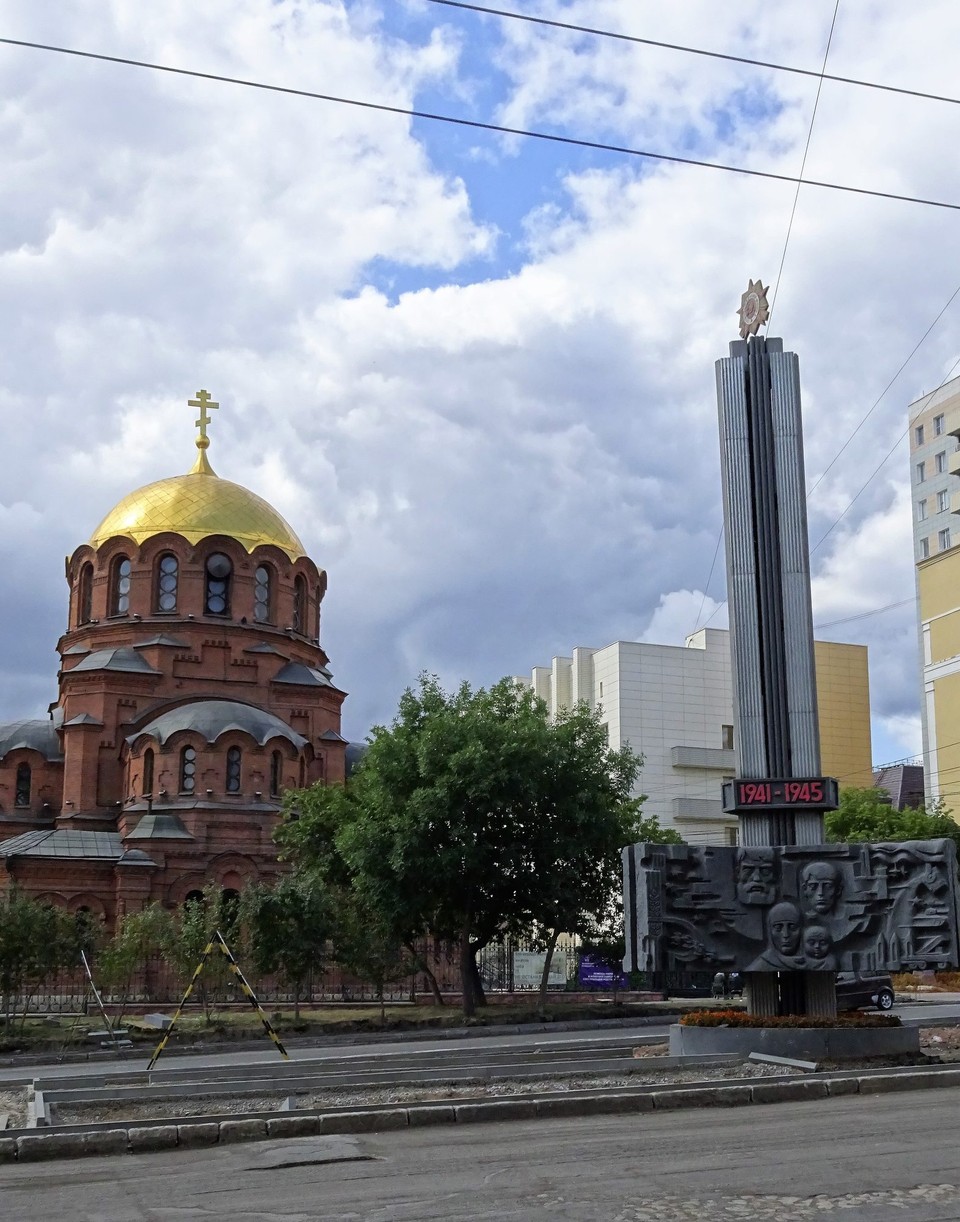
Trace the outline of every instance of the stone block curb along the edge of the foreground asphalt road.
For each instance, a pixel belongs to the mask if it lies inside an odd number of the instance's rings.
[[[960,1086],[960,1068],[892,1069],[870,1074],[855,1070],[810,1078],[767,1078],[729,1085],[642,1086],[634,1090],[591,1091],[583,1095],[548,1094],[535,1097],[471,1100],[451,1103],[412,1103],[371,1111],[313,1111],[263,1121],[231,1116],[222,1121],[111,1128],[70,1133],[21,1130],[0,1141],[0,1162],[40,1162],[54,1158],[82,1158],[117,1154],[147,1154],[161,1150],[197,1150],[239,1141],[278,1138],[385,1133],[404,1128],[446,1124],[495,1123],[497,1121],[547,1121],[578,1116],[640,1114],[675,1112],[693,1107],[749,1107],[802,1100],[823,1101],[848,1095],[877,1095],[892,1091],[931,1090]]]

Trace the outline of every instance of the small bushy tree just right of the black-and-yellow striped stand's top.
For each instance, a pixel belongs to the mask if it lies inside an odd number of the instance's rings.
[[[256,970],[289,985],[299,1020],[303,987],[322,971],[332,934],[330,892],[310,875],[287,876],[275,887],[247,888],[241,907]]]

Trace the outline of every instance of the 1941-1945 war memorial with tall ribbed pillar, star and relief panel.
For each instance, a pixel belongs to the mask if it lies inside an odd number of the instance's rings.
[[[717,400],[739,847],[623,851],[624,969],[736,970],[751,1014],[831,1018],[838,970],[956,967],[956,852],[823,842],[838,791],[820,775],[799,360],[757,334],[760,281],[738,313]]]

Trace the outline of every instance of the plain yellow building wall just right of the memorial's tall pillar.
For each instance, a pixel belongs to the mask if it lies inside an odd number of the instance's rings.
[[[864,788],[873,782],[866,645],[817,640],[813,650],[823,775]]]

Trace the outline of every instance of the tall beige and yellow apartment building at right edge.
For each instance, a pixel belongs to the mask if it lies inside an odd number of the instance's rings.
[[[910,404],[925,798],[960,809],[960,378]]]

